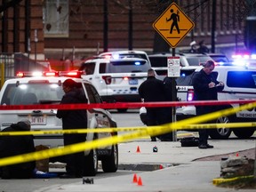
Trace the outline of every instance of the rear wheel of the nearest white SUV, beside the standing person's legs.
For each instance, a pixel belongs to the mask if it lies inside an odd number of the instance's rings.
[[[88,156],[84,156],[84,176],[95,176],[98,171],[98,156],[92,148]]]

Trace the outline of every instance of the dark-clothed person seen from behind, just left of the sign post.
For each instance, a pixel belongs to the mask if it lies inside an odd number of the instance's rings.
[[[148,69],[148,78],[140,84],[139,94],[145,102],[164,101],[164,84],[156,79],[154,69]],[[164,124],[163,108],[147,108],[147,119],[149,126]],[[156,137],[151,137],[151,141],[156,141]]]

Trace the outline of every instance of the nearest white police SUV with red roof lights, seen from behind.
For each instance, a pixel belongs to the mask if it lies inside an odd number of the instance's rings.
[[[20,77],[5,81],[0,92],[2,106],[58,104],[64,95],[61,85],[70,76],[73,76],[72,79],[76,83],[81,84],[81,89],[84,92],[84,97],[88,100],[88,104],[102,103],[99,93],[90,82],[74,77],[77,76],[77,72],[20,72],[18,75]],[[56,117],[56,112],[56,108],[0,110],[1,130],[22,119],[30,120],[32,131],[61,130],[61,120]],[[102,108],[88,109],[87,118],[87,129],[116,127],[116,121],[111,114],[108,110]],[[86,140],[97,140],[116,134],[116,132],[87,133]],[[34,136],[36,145],[45,145],[49,148],[63,146],[62,135]],[[61,159],[55,160],[60,161]],[[118,166],[117,145],[84,151],[84,172],[86,175],[96,174],[98,160],[101,161],[104,172],[116,172]]]

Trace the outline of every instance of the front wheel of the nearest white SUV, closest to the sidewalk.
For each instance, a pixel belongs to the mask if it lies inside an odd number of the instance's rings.
[[[110,156],[103,156],[101,160],[103,172],[116,172],[118,168],[118,146],[114,145]]]

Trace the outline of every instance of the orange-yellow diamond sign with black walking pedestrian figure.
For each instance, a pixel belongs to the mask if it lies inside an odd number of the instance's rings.
[[[194,27],[194,22],[175,3],[170,4],[153,23],[153,28],[171,47],[176,47]]]

